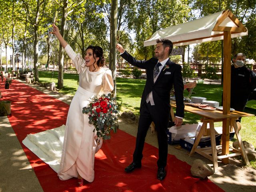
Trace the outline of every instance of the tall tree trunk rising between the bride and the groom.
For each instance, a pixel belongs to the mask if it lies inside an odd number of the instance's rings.
[[[116,100],[116,30],[117,30],[117,7],[118,0],[112,0],[110,12],[110,51],[109,69],[112,71],[114,90],[113,98]]]

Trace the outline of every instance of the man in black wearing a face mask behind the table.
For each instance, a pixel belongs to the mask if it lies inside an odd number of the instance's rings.
[[[231,66],[230,107],[236,111],[244,111],[250,96],[250,69],[244,66],[245,55],[238,53],[234,56]],[[241,122],[238,118],[237,122]],[[238,128],[241,125],[238,123]]]

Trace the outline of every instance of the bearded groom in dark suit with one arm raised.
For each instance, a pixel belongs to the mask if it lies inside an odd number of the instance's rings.
[[[158,39],[156,43],[155,58],[150,60],[136,60],[120,44],[116,45],[116,49],[120,52],[120,56],[130,64],[146,69],[147,74],[146,85],[140,103],[140,119],[133,162],[124,170],[132,172],[134,169],[141,167],[145,137],[153,121],[159,146],[157,178],[158,180],[163,180],[166,176],[165,166],[168,154],[166,129],[170,118],[170,90],[174,86],[176,98],[176,117],[174,123],[176,126],[180,126],[184,117],[184,86],[181,66],[171,62],[169,59],[173,47],[172,42],[167,39]]]

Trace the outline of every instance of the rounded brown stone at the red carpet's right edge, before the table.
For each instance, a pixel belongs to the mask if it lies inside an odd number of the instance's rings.
[[[204,179],[214,174],[214,171],[212,170],[212,168],[200,159],[194,160],[191,166],[190,172],[193,177],[200,178],[200,179]]]

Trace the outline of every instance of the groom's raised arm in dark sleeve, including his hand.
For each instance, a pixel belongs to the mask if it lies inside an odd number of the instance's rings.
[[[116,44],[116,49],[120,52],[120,56],[124,58],[128,63],[136,66],[138,68],[146,69],[147,61],[145,60],[136,60],[133,56],[131,56],[120,44]]]

